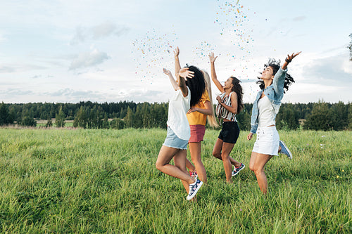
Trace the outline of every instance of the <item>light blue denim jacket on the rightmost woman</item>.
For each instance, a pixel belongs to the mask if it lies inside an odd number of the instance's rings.
[[[257,94],[256,100],[253,103],[253,108],[252,108],[252,117],[251,117],[251,133],[256,134],[256,131],[258,129],[258,100],[262,93],[269,98],[272,107],[275,110],[275,117],[277,113],[279,112],[279,108],[281,105],[281,100],[284,97],[284,82],[285,82],[285,77],[286,77],[286,70],[282,70],[280,67],[277,73],[274,76],[274,79],[272,81],[272,84],[270,86],[266,87],[264,90],[260,90]]]

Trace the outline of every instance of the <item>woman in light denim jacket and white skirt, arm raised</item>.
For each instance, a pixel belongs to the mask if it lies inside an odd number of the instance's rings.
[[[270,59],[268,65],[265,65],[261,77],[258,77],[260,80],[257,84],[259,84],[261,90],[253,103],[251,132],[247,139],[251,140],[253,134],[257,134],[249,169],[256,174],[259,188],[264,194],[268,190],[268,181],[264,172],[265,164],[278,152],[284,153],[289,159],[292,158],[287,146],[279,141],[279,134],[275,127],[275,117],[284,97],[284,89],[287,91],[291,82],[294,82],[294,79],[287,74],[287,65],[299,53],[292,53],[291,56],[287,55],[282,67],[279,66],[279,62]]]

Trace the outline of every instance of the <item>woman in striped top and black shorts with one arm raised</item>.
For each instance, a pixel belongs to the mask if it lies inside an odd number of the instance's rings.
[[[214,53],[209,54],[211,79],[213,79],[215,86],[217,86],[221,92],[220,96],[216,97],[216,100],[218,100],[216,115],[218,115],[219,119],[222,119],[222,130],[214,145],[213,155],[219,160],[222,160],[226,181],[227,183],[231,183],[231,177],[237,175],[241,169],[244,169],[243,163],[237,162],[230,157],[232,148],[234,148],[234,144],[239,137],[239,126],[237,124],[236,114],[243,109],[243,93],[239,79],[236,77],[229,77],[224,86],[220,84],[215,73],[216,58],[218,58],[218,56],[214,57]],[[234,165],[233,171],[232,165]]]

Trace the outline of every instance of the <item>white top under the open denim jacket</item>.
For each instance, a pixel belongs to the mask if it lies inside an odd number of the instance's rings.
[[[275,110],[265,95],[258,100],[258,127],[275,125]]]

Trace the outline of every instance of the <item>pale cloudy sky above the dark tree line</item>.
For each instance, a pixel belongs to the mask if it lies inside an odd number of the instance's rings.
[[[180,62],[241,80],[253,103],[269,58],[295,83],[283,103],[352,101],[352,1],[0,0],[0,102],[168,102]],[[215,85],[213,100],[220,94]]]

